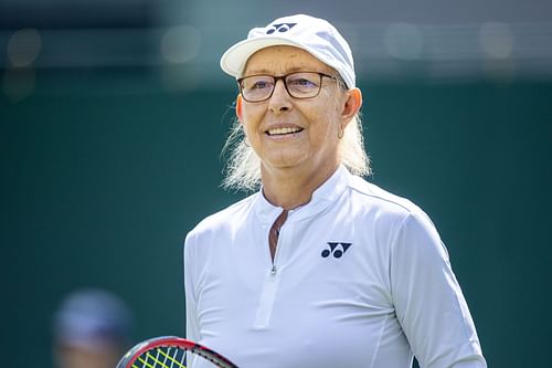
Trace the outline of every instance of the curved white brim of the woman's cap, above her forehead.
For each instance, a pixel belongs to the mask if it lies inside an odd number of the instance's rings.
[[[235,77],[241,76],[247,60],[257,51],[276,45],[289,45],[302,49],[318,59],[318,56],[301,43],[286,38],[263,36],[259,39],[244,40],[231,46],[221,57],[221,69]]]

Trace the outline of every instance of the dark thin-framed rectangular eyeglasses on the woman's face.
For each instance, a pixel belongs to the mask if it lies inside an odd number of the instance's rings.
[[[263,102],[272,97],[276,82],[282,80],[287,93],[294,98],[312,98],[322,88],[322,77],[337,80],[335,76],[318,72],[297,72],[282,76],[250,75],[237,80],[240,93],[247,102]]]

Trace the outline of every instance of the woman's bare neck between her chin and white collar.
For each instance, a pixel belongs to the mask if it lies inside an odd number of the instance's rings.
[[[338,169],[339,164],[311,172],[294,168],[266,168],[262,166],[263,193],[274,206],[293,210],[306,204],[312,193]]]

